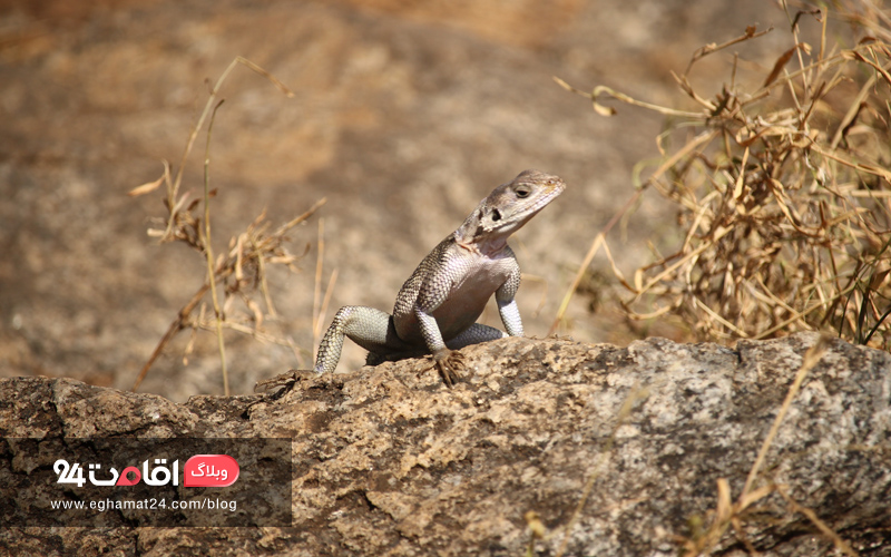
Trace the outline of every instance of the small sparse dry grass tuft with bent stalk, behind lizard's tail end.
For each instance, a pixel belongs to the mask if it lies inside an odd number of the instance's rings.
[[[194,346],[198,330],[205,329],[216,333],[223,373],[223,391],[226,395],[229,394],[229,385],[226,373],[224,329],[251,335],[262,342],[274,342],[288,346],[296,354],[297,349],[290,338],[276,336],[263,328],[265,321],[277,316],[266,285],[266,270],[268,265],[283,265],[296,271],[294,264],[302,255],[295,255],[288,251],[287,234],[294,226],[312,216],[325,203],[325,199],[321,199],[302,215],[274,229],[266,221],[265,212],[262,213],[247,225],[244,232],[229,238],[228,246],[223,253],[214,256],[210,235],[210,199],[217,195],[217,190],[210,188],[210,137],[214,117],[223,104],[223,100],[217,100],[219,89],[226,77],[239,65],[265,77],[288,97],[293,96],[290,89],[263,68],[242,57],[235,58],[210,90],[204,111],[188,137],[176,176],[172,176],[170,166],[165,162],[164,174],[160,178],[130,190],[131,196],[137,196],[155,192],[161,185],[166,186],[163,198],[166,214],[156,219],[158,227],[149,228],[148,234],[157,237],[160,243],[182,242],[188,245],[205,260],[207,268],[203,284],[180,307],[167,332],[139,371],[133,387],[134,391],[139,388],[148,370],[167,344],[177,333],[186,329],[192,331],[192,340],[186,348],[185,358]],[[204,195],[198,197],[192,190],[180,193],[180,186],[186,160],[205,121],[207,121],[207,131],[204,153]],[[207,310],[208,293],[210,294],[210,311]],[[241,302],[241,304],[236,304],[236,302]],[[198,310],[197,315],[195,315],[196,310]],[[208,316],[208,313],[212,315]]]

